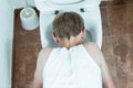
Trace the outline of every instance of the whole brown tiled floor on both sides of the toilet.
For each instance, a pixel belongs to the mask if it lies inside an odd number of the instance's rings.
[[[16,10],[12,88],[30,88],[41,47],[40,30],[25,31]],[[101,3],[103,45],[117,88],[133,88],[133,0]]]

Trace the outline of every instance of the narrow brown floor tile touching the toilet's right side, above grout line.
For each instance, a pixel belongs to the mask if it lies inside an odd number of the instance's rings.
[[[110,35],[106,8],[101,8],[103,36]]]

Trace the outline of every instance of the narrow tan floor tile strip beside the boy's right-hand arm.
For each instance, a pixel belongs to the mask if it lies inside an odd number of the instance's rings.
[[[109,70],[110,70],[111,75],[116,76],[115,59],[113,56],[113,47],[112,47],[111,37],[109,37],[109,36],[103,37],[102,52],[105,57],[105,61],[109,66]]]

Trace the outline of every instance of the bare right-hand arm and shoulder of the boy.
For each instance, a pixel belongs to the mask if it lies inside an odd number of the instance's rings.
[[[116,88],[113,84],[104,56],[99,46],[94,43],[90,43],[88,44],[88,50],[91,53],[92,57],[95,58],[96,63],[101,67],[103,88]]]

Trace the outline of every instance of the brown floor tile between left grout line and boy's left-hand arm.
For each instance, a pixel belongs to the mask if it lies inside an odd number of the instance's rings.
[[[31,82],[33,79],[34,70],[35,70],[35,65],[37,65],[37,58],[38,54],[41,50],[41,44],[28,44],[27,45],[27,51],[25,51],[25,56],[27,56],[27,68],[25,68],[25,74],[27,74],[27,84]]]

